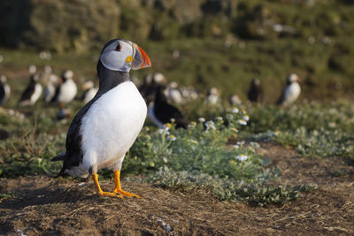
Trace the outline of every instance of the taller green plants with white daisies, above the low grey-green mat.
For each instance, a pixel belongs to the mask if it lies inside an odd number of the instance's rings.
[[[260,163],[259,156],[250,148],[227,147],[228,138],[247,124],[245,119],[249,118],[244,110],[234,109],[226,118],[200,118],[187,130],[175,129],[173,123],[152,132],[145,128],[130,149],[123,169],[141,173],[167,166],[176,171],[188,168],[221,176],[251,175],[257,171],[253,168]],[[234,164],[235,156],[241,155],[251,156],[247,164]]]

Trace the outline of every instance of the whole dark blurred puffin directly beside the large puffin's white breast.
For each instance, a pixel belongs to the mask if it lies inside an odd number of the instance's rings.
[[[188,128],[189,121],[185,118],[181,111],[175,106],[167,103],[167,98],[164,93],[165,88],[158,86],[155,93],[155,101],[150,104],[149,118],[159,128],[163,128],[166,123],[174,119],[176,128]]]

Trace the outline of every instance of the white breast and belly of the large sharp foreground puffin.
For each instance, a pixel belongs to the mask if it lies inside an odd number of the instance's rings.
[[[102,95],[82,118],[83,162],[68,173],[85,178],[90,167],[95,172],[102,168],[120,170],[127,150],[142,129],[146,114],[146,103],[131,81]]]

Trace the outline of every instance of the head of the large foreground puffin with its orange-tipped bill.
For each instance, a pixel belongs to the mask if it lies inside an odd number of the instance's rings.
[[[129,72],[150,67],[148,55],[134,42],[115,40],[101,54],[104,67],[112,71]]]

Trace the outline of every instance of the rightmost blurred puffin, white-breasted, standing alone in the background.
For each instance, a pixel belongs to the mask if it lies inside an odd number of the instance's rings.
[[[284,88],[277,104],[287,106],[294,103],[301,93],[300,85],[297,83],[299,77],[296,73],[290,73],[287,77],[287,87]]]

